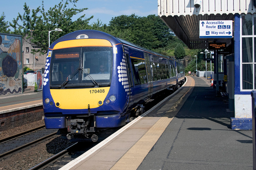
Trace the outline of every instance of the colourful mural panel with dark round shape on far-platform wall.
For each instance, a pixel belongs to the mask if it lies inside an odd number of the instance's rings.
[[[0,96],[22,93],[22,36],[0,33]]]

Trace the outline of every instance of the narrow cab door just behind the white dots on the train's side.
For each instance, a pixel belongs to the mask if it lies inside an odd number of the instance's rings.
[[[127,48],[128,49],[128,48]],[[125,59],[126,59],[126,70],[127,70],[127,77],[128,77],[128,83],[129,83],[129,92],[128,92],[128,103],[127,103],[127,110],[130,110],[132,107],[132,90],[133,90],[133,80],[132,80],[132,72],[131,72],[131,64],[130,64],[130,57],[129,54],[125,53]]]

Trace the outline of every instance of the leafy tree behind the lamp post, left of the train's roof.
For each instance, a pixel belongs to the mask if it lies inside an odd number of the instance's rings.
[[[45,54],[48,51],[48,31],[54,30],[55,28],[61,28],[63,32],[51,32],[50,42],[60,38],[61,36],[73,32],[78,29],[88,29],[89,20],[93,18],[91,16],[85,19],[85,14],[81,15],[76,21],[72,22],[72,17],[77,15],[87,8],[76,9],[76,2],[78,0],[63,0],[54,7],[50,8],[47,12],[44,10],[44,2],[37,9],[32,9],[30,13],[29,6],[24,4],[24,14],[13,19],[13,23],[10,26],[14,28],[12,33],[15,34],[27,34],[27,39],[32,38],[30,41],[40,46],[41,49],[33,49],[33,53]],[[69,5],[73,5],[69,8]],[[22,25],[19,22],[22,22]]]

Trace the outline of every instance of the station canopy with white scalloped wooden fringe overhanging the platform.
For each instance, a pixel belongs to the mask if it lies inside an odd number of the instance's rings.
[[[254,1],[256,0],[158,0],[158,16],[190,49],[207,49],[208,42],[226,42],[228,46],[231,38],[199,38],[200,21],[234,21],[236,13],[253,14],[256,12]]]

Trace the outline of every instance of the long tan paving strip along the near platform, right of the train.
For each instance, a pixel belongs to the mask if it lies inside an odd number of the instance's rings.
[[[122,158],[119,159],[119,161],[116,162],[114,166],[112,166],[111,170],[135,170],[138,168],[166,127],[172,121],[173,117],[179,112],[187,97],[191,94],[195,82],[191,77],[187,77],[187,79],[188,82],[183,87],[187,92],[183,95],[177,94],[175,98],[178,98],[178,100],[171,108],[169,108],[169,110],[166,110],[164,106],[158,110],[165,110],[166,113],[123,155]],[[168,105],[168,102],[165,105]]]

